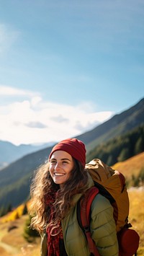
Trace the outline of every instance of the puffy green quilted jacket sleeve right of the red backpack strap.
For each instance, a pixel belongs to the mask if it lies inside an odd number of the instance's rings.
[[[102,256],[117,256],[117,232],[113,208],[107,198],[98,194],[91,205],[91,237]]]

